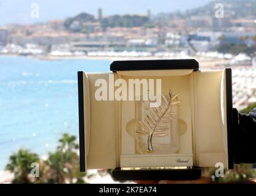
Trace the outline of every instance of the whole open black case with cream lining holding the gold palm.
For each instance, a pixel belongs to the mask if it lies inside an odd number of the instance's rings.
[[[81,171],[113,169],[123,181],[197,179],[218,162],[233,168],[231,69],[174,59],[114,61],[110,70],[78,72]],[[96,100],[99,79],[161,79],[161,104]]]

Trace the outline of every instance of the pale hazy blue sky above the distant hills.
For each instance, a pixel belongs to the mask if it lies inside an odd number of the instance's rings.
[[[99,7],[103,16],[126,13],[172,12],[204,6],[210,0],[0,0],[0,26],[9,23],[38,23],[53,19],[65,19],[87,12],[97,15]],[[31,17],[31,4],[39,6],[39,18]]]

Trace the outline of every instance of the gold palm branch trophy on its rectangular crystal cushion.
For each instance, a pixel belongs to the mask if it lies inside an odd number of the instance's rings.
[[[179,94],[179,93],[178,93]],[[178,151],[178,94],[161,94],[161,105],[150,107],[150,101],[137,101],[135,110],[139,127],[132,130],[137,154],[168,154]],[[153,143],[154,140],[154,143]]]

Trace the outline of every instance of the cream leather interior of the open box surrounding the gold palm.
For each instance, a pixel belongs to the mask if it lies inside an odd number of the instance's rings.
[[[147,66],[147,62],[153,66]],[[115,63],[122,65],[122,62]],[[129,63],[132,65],[133,61]],[[117,167],[215,167],[218,162],[232,168],[231,69],[191,69],[182,60],[136,63],[142,66],[130,66],[130,70],[120,66],[121,69],[106,73],[78,72],[81,171]],[[127,83],[136,78],[161,79],[162,94],[168,94],[169,89],[173,94],[180,92],[175,153],[138,152],[137,135],[133,132],[138,127],[137,100],[95,99],[98,79],[106,80],[107,88],[111,88],[110,80],[118,78]],[[117,88],[114,86],[113,91]],[[153,138],[153,144],[166,140],[162,138]]]

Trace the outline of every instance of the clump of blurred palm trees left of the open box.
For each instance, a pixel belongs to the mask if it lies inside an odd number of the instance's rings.
[[[37,154],[20,149],[10,156],[6,169],[14,173],[13,183],[85,183],[86,173],[79,171],[79,145],[76,137],[63,134],[60,145],[47,160],[40,160]],[[31,178],[31,163],[39,163],[39,178]]]

